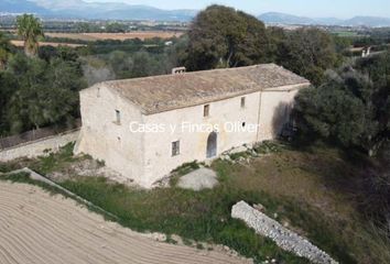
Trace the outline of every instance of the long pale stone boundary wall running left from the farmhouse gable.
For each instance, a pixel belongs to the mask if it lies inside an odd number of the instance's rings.
[[[45,154],[48,150],[53,152],[58,151],[61,146],[64,146],[69,142],[75,142],[78,134],[79,130],[74,130],[20,144],[10,148],[0,150],[0,162],[9,162],[20,157],[36,157]]]

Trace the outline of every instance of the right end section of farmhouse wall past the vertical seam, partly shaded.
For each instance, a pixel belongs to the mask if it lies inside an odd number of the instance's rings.
[[[289,121],[299,89],[269,90],[261,95],[260,131],[258,141],[275,139]]]

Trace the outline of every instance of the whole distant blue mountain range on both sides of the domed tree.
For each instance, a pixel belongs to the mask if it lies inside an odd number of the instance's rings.
[[[43,18],[100,19],[100,20],[152,20],[191,21],[198,10],[162,10],[143,4],[123,2],[86,2],[84,0],[1,0],[0,13],[34,13]],[[337,18],[307,18],[281,12],[267,12],[258,16],[268,24],[291,25],[344,25],[390,26],[390,19],[357,15]]]

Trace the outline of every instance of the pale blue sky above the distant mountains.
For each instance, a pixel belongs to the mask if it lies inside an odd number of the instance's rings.
[[[148,4],[162,9],[203,9],[221,3],[252,14],[269,11],[306,16],[350,18],[376,15],[390,18],[390,0],[86,0],[89,2],[127,2]]]

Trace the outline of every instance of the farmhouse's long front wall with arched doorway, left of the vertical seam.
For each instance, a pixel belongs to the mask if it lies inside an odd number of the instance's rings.
[[[205,161],[207,139],[213,128],[217,132],[217,155],[231,147],[256,142],[259,102],[260,92],[254,92],[206,103],[209,105],[208,117],[204,117],[205,105],[145,116],[148,124],[167,125],[164,132],[145,133],[147,182],[153,184],[184,163]],[[199,128],[189,128],[188,124],[203,128],[199,132]],[[180,154],[173,156],[172,142],[175,141],[180,141]]]

